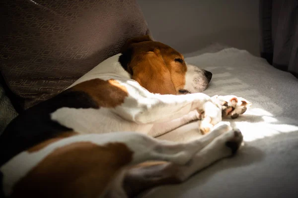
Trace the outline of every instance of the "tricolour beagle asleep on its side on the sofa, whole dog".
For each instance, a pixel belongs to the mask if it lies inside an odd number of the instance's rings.
[[[7,126],[0,136],[0,195],[133,197],[232,155],[243,138],[222,117],[236,118],[250,102],[202,94],[211,77],[149,36],[130,40],[122,53]],[[201,139],[154,139],[194,120],[201,120]]]

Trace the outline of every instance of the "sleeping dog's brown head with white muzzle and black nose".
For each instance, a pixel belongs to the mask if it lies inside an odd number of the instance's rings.
[[[151,93],[181,95],[204,91],[212,73],[187,64],[175,49],[148,35],[129,40],[119,62]]]

